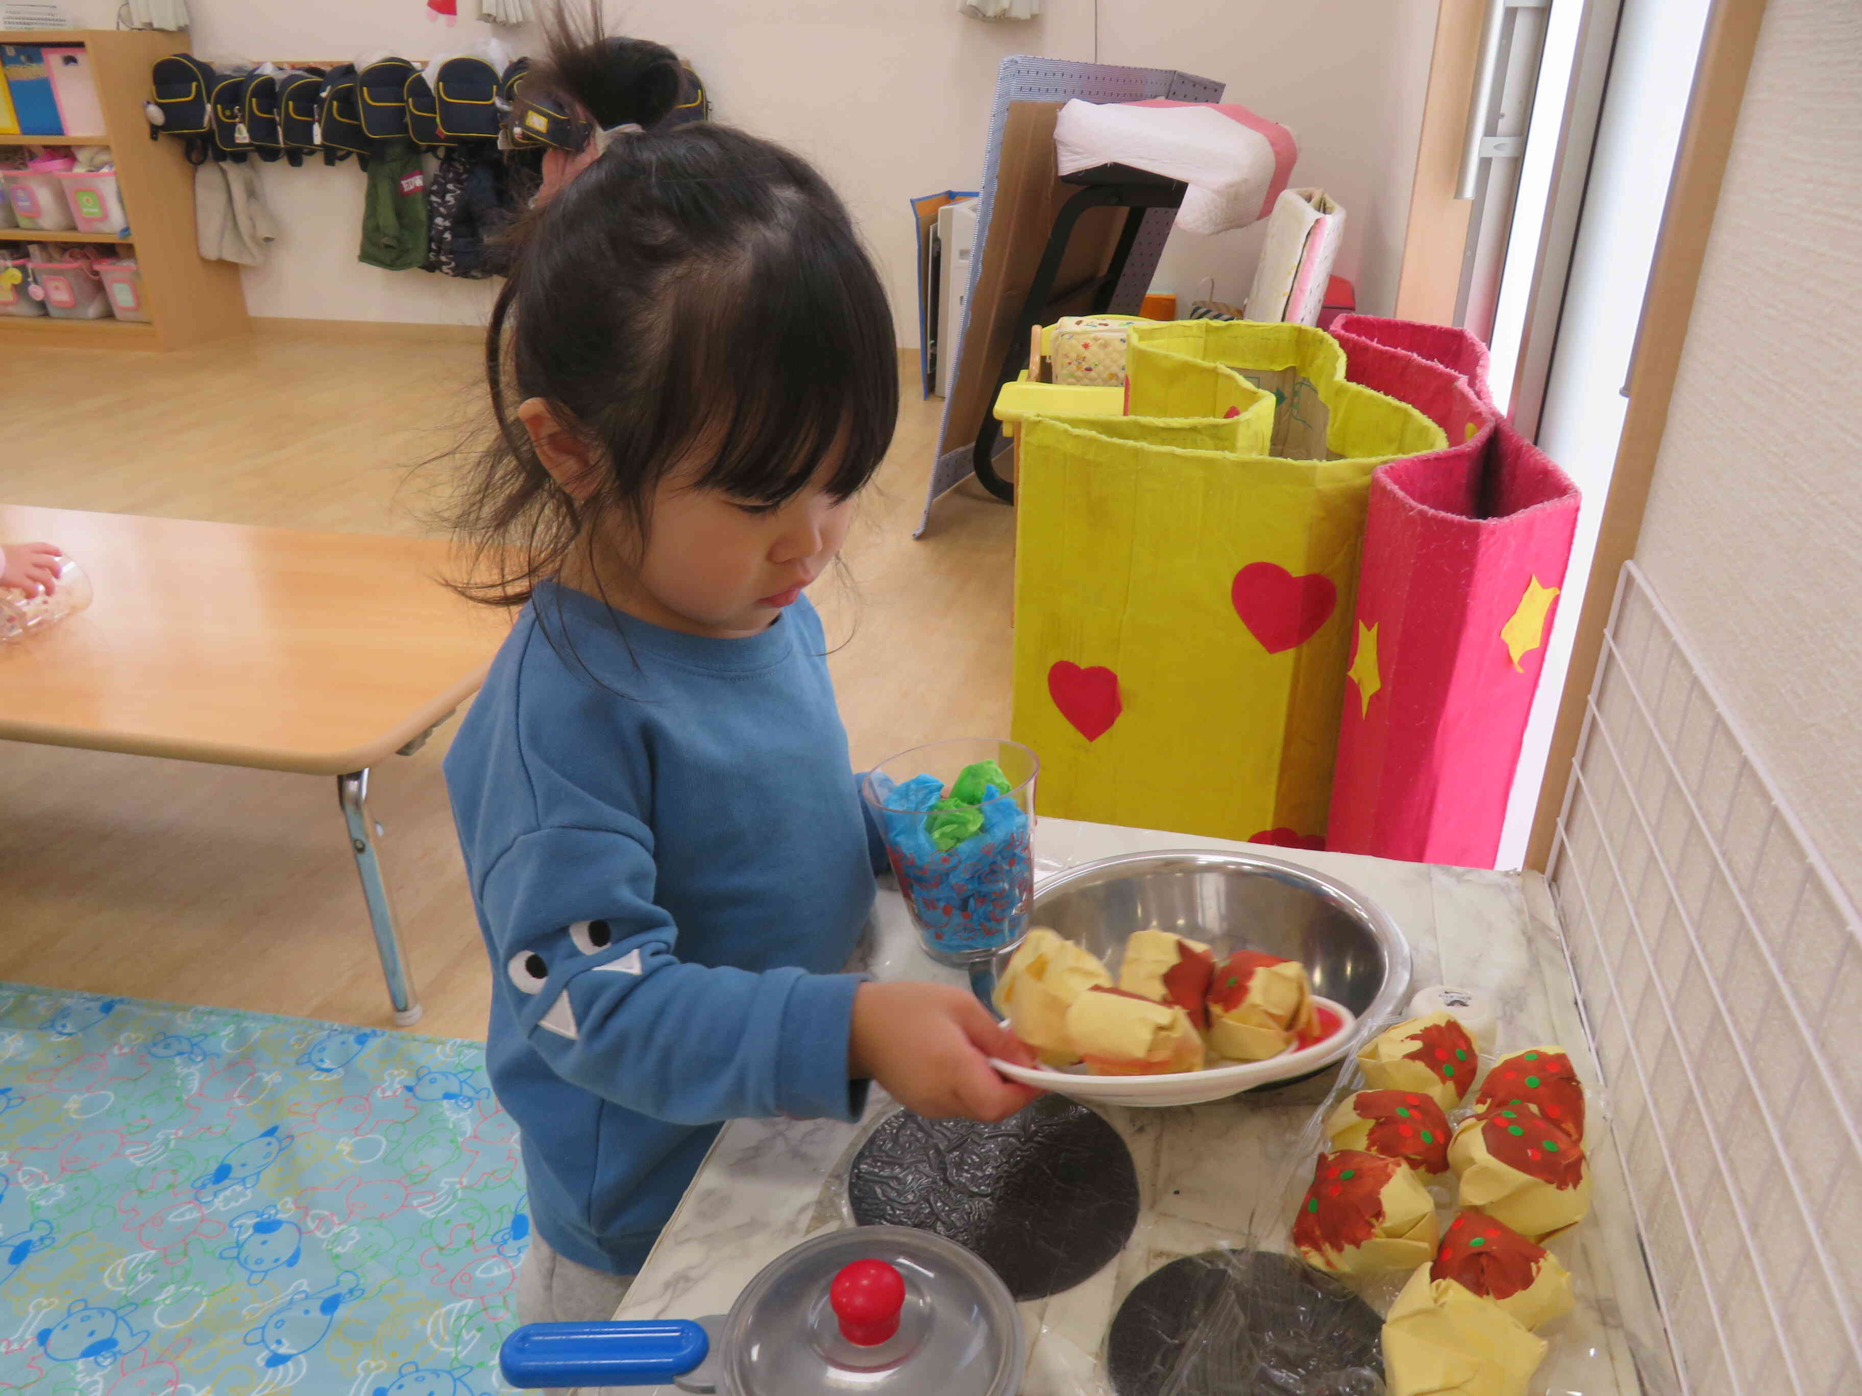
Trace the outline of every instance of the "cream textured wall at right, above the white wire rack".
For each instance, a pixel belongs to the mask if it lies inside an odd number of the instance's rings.
[[[1637,558],[1862,895],[1862,9],[1771,0]]]

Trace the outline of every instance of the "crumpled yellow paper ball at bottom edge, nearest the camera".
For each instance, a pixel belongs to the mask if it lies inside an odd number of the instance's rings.
[[[1387,1396],[1525,1396],[1545,1340],[1491,1299],[1417,1269],[1383,1320]]]

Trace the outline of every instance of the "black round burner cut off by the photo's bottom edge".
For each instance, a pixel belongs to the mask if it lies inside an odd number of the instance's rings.
[[[1329,1275],[1272,1251],[1205,1251],[1125,1295],[1106,1338],[1117,1396],[1160,1396],[1205,1318],[1207,1346],[1190,1357],[1181,1390],[1357,1390],[1383,1368],[1383,1320]]]

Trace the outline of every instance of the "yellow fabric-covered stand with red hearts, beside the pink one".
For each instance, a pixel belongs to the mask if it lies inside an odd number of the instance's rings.
[[[1043,813],[1318,847],[1370,473],[1447,441],[1307,326],[1134,326],[1128,374],[1130,417],[1024,423],[1013,733]]]

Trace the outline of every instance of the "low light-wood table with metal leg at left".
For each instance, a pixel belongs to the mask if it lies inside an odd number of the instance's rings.
[[[0,739],[335,776],[395,1022],[421,1016],[369,769],[484,681],[508,616],[439,584],[419,538],[0,504],[0,545],[76,558],[89,611],[0,646]]]

